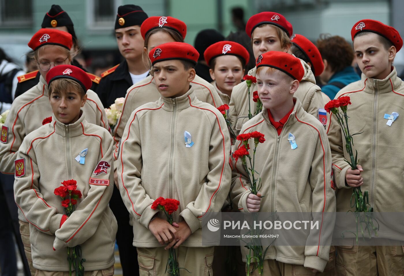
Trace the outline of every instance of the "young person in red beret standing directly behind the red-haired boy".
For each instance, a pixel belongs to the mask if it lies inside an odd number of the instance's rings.
[[[246,33],[251,37],[255,59],[269,51],[288,52],[292,45],[290,41],[290,36],[293,35],[292,25],[279,13],[263,12],[253,15],[248,19]],[[302,102],[305,111],[318,118],[318,109],[324,107],[321,89],[316,85],[316,80],[310,67],[304,61],[302,61],[302,64],[305,67],[305,75],[295,96]],[[256,69],[251,69],[248,75],[255,77]],[[251,113],[255,115],[256,104],[252,95],[255,90],[257,90],[257,86],[253,83],[250,88],[250,98],[248,99],[245,82],[233,88],[229,104],[229,121],[236,134],[240,132],[243,123],[248,121],[248,101],[250,102]]]

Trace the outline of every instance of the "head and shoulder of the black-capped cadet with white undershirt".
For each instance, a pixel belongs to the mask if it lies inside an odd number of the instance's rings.
[[[124,97],[130,86],[147,77],[149,73],[150,68],[143,62],[147,61],[147,56],[143,57],[144,40],[140,33],[140,25],[145,19],[147,14],[139,6],[118,7],[115,36],[119,52],[125,59],[101,74],[102,79],[96,92],[104,107],[112,105],[116,98]]]

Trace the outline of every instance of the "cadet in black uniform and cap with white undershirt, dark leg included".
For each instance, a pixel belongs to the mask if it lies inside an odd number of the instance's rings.
[[[124,97],[126,90],[148,75],[149,68],[143,63],[144,40],[140,33],[140,25],[147,19],[141,7],[124,5],[118,7],[115,21],[116,42],[122,56],[122,63],[101,74],[97,94],[104,107],[109,107],[116,98]],[[145,56],[144,60],[147,60]],[[142,76],[139,76],[142,75]],[[139,275],[136,247],[133,247],[133,227],[130,226],[129,213],[122,201],[119,190],[114,186],[109,207],[118,222],[116,243],[118,244],[122,273]]]

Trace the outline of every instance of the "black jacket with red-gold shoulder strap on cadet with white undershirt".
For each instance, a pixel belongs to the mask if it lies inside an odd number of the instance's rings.
[[[103,72],[101,77],[95,92],[105,108],[112,105],[117,98],[125,97],[126,90],[133,85],[126,60]]]

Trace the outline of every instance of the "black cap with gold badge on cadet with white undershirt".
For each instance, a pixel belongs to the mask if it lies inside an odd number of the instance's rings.
[[[115,29],[129,26],[142,25],[147,19],[147,14],[136,5],[124,5],[118,7],[118,14],[115,20]]]

